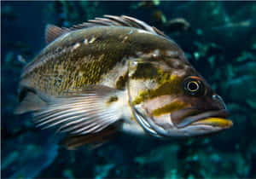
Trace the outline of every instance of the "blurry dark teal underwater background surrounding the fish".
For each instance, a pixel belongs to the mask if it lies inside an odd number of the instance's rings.
[[[214,136],[148,141],[123,135],[69,151],[15,115],[23,65],[44,48],[47,24],[73,26],[103,14],[156,26],[224,98],[234,125]],[[171,26],[175,23],[176,26]],[[256,178],[256,2],[1,1],[3,178]]]

